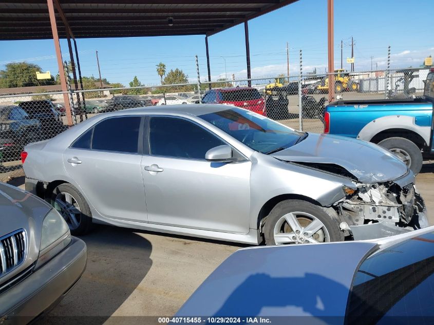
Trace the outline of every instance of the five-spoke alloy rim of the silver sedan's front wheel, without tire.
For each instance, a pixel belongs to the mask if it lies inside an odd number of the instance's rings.
[[[288,213],[282,216],[274,226],[276,245],[329,241],[330,235],[324,223],[305,212]]]

